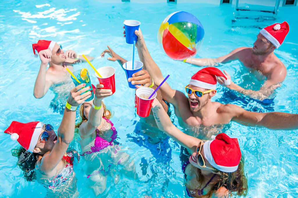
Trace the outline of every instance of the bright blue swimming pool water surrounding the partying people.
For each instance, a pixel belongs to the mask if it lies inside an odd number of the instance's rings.
[[[32,43],[38,39],[55,40],[63,49],[73,49],[79,54],[98,57],[106,45],[127,60],[131,60],[131,45],[122,36],[124,19],[141,21],[147,47],[160,66],[172,88],[183,91],[189,78],[198,67],[186,65],[168,58],[157,44],[157,31],[162,20],[172,12],[184,10],[194,14],[205,29],[204,42],[197,57],[222,56],[236,47],[252,46],[260,27],[274,23],[263,21],[233,23],[232,5],[218,7],[212,4],[137,4],[102,3],[98,1],[12,1],[0,3],[0,197],[45,197],[46,189],[37,182],[27,182],[16,167],[17,159],[10,154],[17,143],[2,131],[13,120],[20,122],[43,121],[58,128],[62,116],[53,113],[49,103],[54,95],[49,92],[42,99],[33,97],[33,86],[40,66],[39,58],[32,53]],[[297,106],[297,49],[296,37],[297,7],[280,7],[277,22],[286,20],[290,32],[284,44],[275,51],[287,67],[287,77],[278,88],[274,104],[275,111],[298,113]],[[161,145],[151,145],[142,134],[136,134],[139,117],[134,108],[134,91],[128,89],[126,77],[117,62],[96,58],[93,65],[116,68],[116,93],[105,103],[114,111],[111,119],[118,131],[118,142],[122,149],[135,161],[139,180],[121,178],[112,185],[104,197],[184,197],[183,173],[179,159],[180,146],[169,139]],[[87,64],[75,65],[75,69]],[[226,69],[232,79],[246,85],[245,70],[235,61],[219,69]],[[91,71],[91,70],[90,70]],[[182,74],[182,75],[181,75]],[[97,82],[94,75],[91,81]],[[254,83],[259,83],[254,80]],[[253,85],[248,86],[251,88]],[[225,88],[218,86],[214,100],[223,101]],[[244,102],[225,99],[224,102],[238,104],[247,110],[260,112],[268,108],[258,102],[243,99]],[[178,125],[175,119],[175,124]],[[227,134],[238,137],[245,157],[245,171],[248,177],[248,197],[297,197],[298,196],[298,138],[295,131],[271,131],[263,128],[245,127],[231,123]],[[156,158],[158,154],[167,157]],[[75,164],[80,197],[93,197],[86,187],[87,178],[79,164]]]

